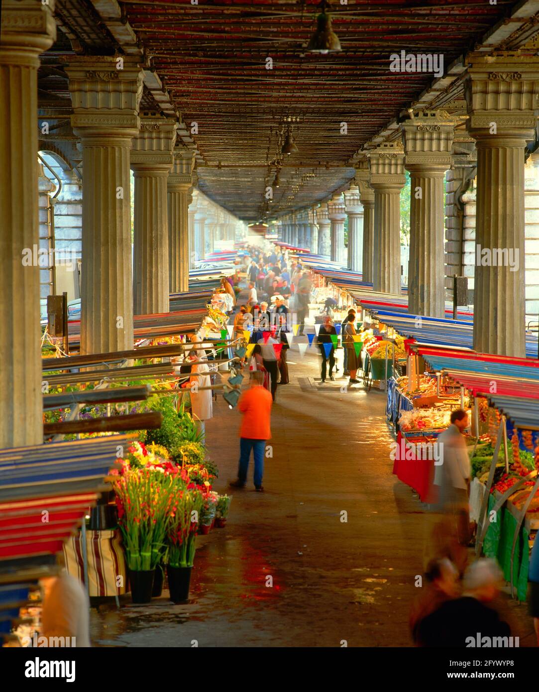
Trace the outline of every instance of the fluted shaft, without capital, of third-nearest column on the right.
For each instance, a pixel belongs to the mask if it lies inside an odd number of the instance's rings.
[[[401,197],[396,188],[374,190],[373,289],[401,292]]]

